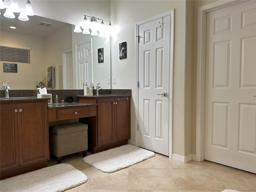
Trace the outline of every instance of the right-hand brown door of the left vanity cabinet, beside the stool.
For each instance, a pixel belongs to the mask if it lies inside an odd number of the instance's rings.
[[[49,159],[47,103],[18,104],[20,165]]]

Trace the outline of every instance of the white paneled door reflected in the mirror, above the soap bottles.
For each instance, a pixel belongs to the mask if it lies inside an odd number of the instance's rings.
[[[91,42],[88,41],[77,47],[76,55],[76,88],[82,89],[83,83],[92,83]]]

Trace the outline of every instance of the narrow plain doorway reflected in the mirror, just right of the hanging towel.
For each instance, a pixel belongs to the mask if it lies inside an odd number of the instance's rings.
[[[62,52],[63,89],[74,89],[72,50]]]

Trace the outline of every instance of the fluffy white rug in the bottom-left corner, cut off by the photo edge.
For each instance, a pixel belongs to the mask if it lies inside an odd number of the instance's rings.
[[[87,181],[70,164],[57,164],[0,181],[1,192],[61,192]]]

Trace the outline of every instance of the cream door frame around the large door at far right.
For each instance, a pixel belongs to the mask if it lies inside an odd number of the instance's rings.
[[[198,7],[197,75],[196,75],[196,161],[204,160],[204,99],[206,59],[206,14],[247,0],[217,1]]]

